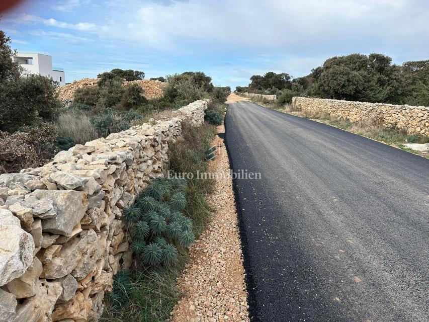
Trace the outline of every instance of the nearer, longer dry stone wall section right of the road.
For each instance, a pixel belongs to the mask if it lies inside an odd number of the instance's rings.
[[[292,106],[310,113],[329,113],[351,122],[375,118],[383,126],[429,136],[429,107],[293,97]]]

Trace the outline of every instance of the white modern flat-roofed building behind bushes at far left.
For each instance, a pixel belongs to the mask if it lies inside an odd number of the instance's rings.
[[[20,52],[14,59],[24,68],[24,74],[41,74],[52,77],[59,86],[65,85],[64,70],[52,68],[52,56],[38,54],[34,52]]]

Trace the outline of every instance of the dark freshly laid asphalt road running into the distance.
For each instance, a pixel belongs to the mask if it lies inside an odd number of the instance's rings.
[[[429,321],[429,160],[250,102],[228,105],[254,321]]]

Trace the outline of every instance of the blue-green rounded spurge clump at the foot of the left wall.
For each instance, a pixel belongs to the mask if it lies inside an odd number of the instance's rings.
[[[131,249],[140,254],[142,264],[172,265],[178,247],[188,248],[195,235],[193,222],[180,211],[186,207],[186,181],[152,181],[134,203],[124,208],[124,219],[131,227]]]

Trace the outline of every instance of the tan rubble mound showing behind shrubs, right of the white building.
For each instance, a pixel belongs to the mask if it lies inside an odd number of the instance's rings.
[[[71,84],[65,85],[63,87],[58,88],[58,96],[61,101],[71,102],[74,99],[74,92],[77,89],[81,89],[84,87],[97,85],[98,78],[83,78],[80,81],[74,81]],[[159,82],[159,81],[149,81],[148,79],[143,79],[142,81],[124,81],[124,86],[128,86],[130,84],[138,84],[144,91],[144,96],[147,99],[155,99],[161,98],[163,96],[163,91],[167,86],[167,83]]]

